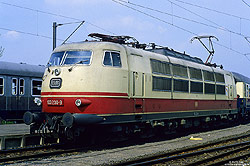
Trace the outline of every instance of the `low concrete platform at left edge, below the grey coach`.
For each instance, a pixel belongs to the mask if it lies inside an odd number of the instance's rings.
[[[26,124],[0,125],[0,136],[29,134],[30,127]]]

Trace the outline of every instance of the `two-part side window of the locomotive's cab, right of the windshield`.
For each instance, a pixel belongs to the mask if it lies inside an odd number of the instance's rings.
[[[106,51],[103,58],[104,66],[121,67],[121,56],[119,52]]]

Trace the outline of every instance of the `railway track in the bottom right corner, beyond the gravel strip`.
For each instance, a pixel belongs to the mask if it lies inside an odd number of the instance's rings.
[[[115,164],[129,165],[224,165],[250,157],[250,135],[230,138],[165,154]],[[249,161],[249,160],[248,160]],[[247,162],[247,161],[246,161]]]

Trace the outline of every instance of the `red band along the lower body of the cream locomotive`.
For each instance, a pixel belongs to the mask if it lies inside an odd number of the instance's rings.
[[[109,97],[61,97],[60,95],[99,95]],[[192,99],[142,99],[122,98],[123,93],[98,93],[98,92],[51,92],[50,95],[57,97],[43,97],[43,111],[50,113],[84,113],[84,114],[126,114],[126,113],[157,113],[157,112],[180,112],[194,110],[225,110],[237,109],[236,100],[192,100]],[[59,95],[60,94],[60,95]],[[112,97],[112,96],[114,97]],[[125,93],[123,94],[125,95]],[[126,94],[127,95],[127,94]],[[63,99],[63,106],[48,105],[47,100]],[[89,100],[91,104],[77,107],[77,99]],[[137,107],[139,106],[139,107]],[[141,108],[140,108],[141,106]]]

